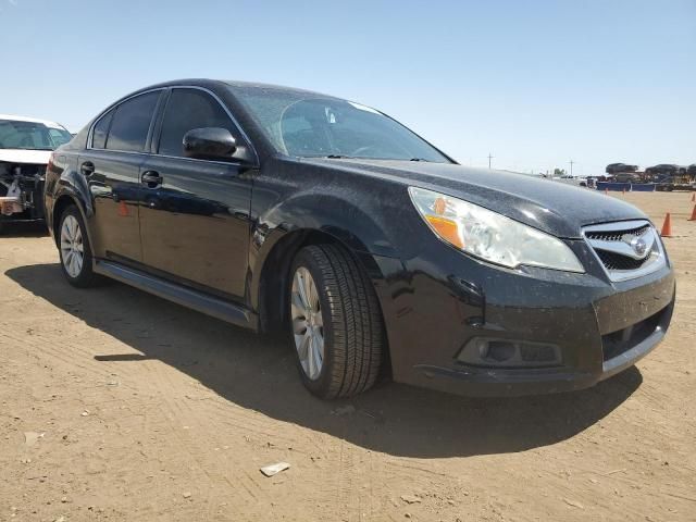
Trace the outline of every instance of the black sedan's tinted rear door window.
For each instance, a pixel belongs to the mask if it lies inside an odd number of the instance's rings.
[[[105,148],[135,152],[144,150],[159,97],[158,90],[121,103],[113,115]]]

